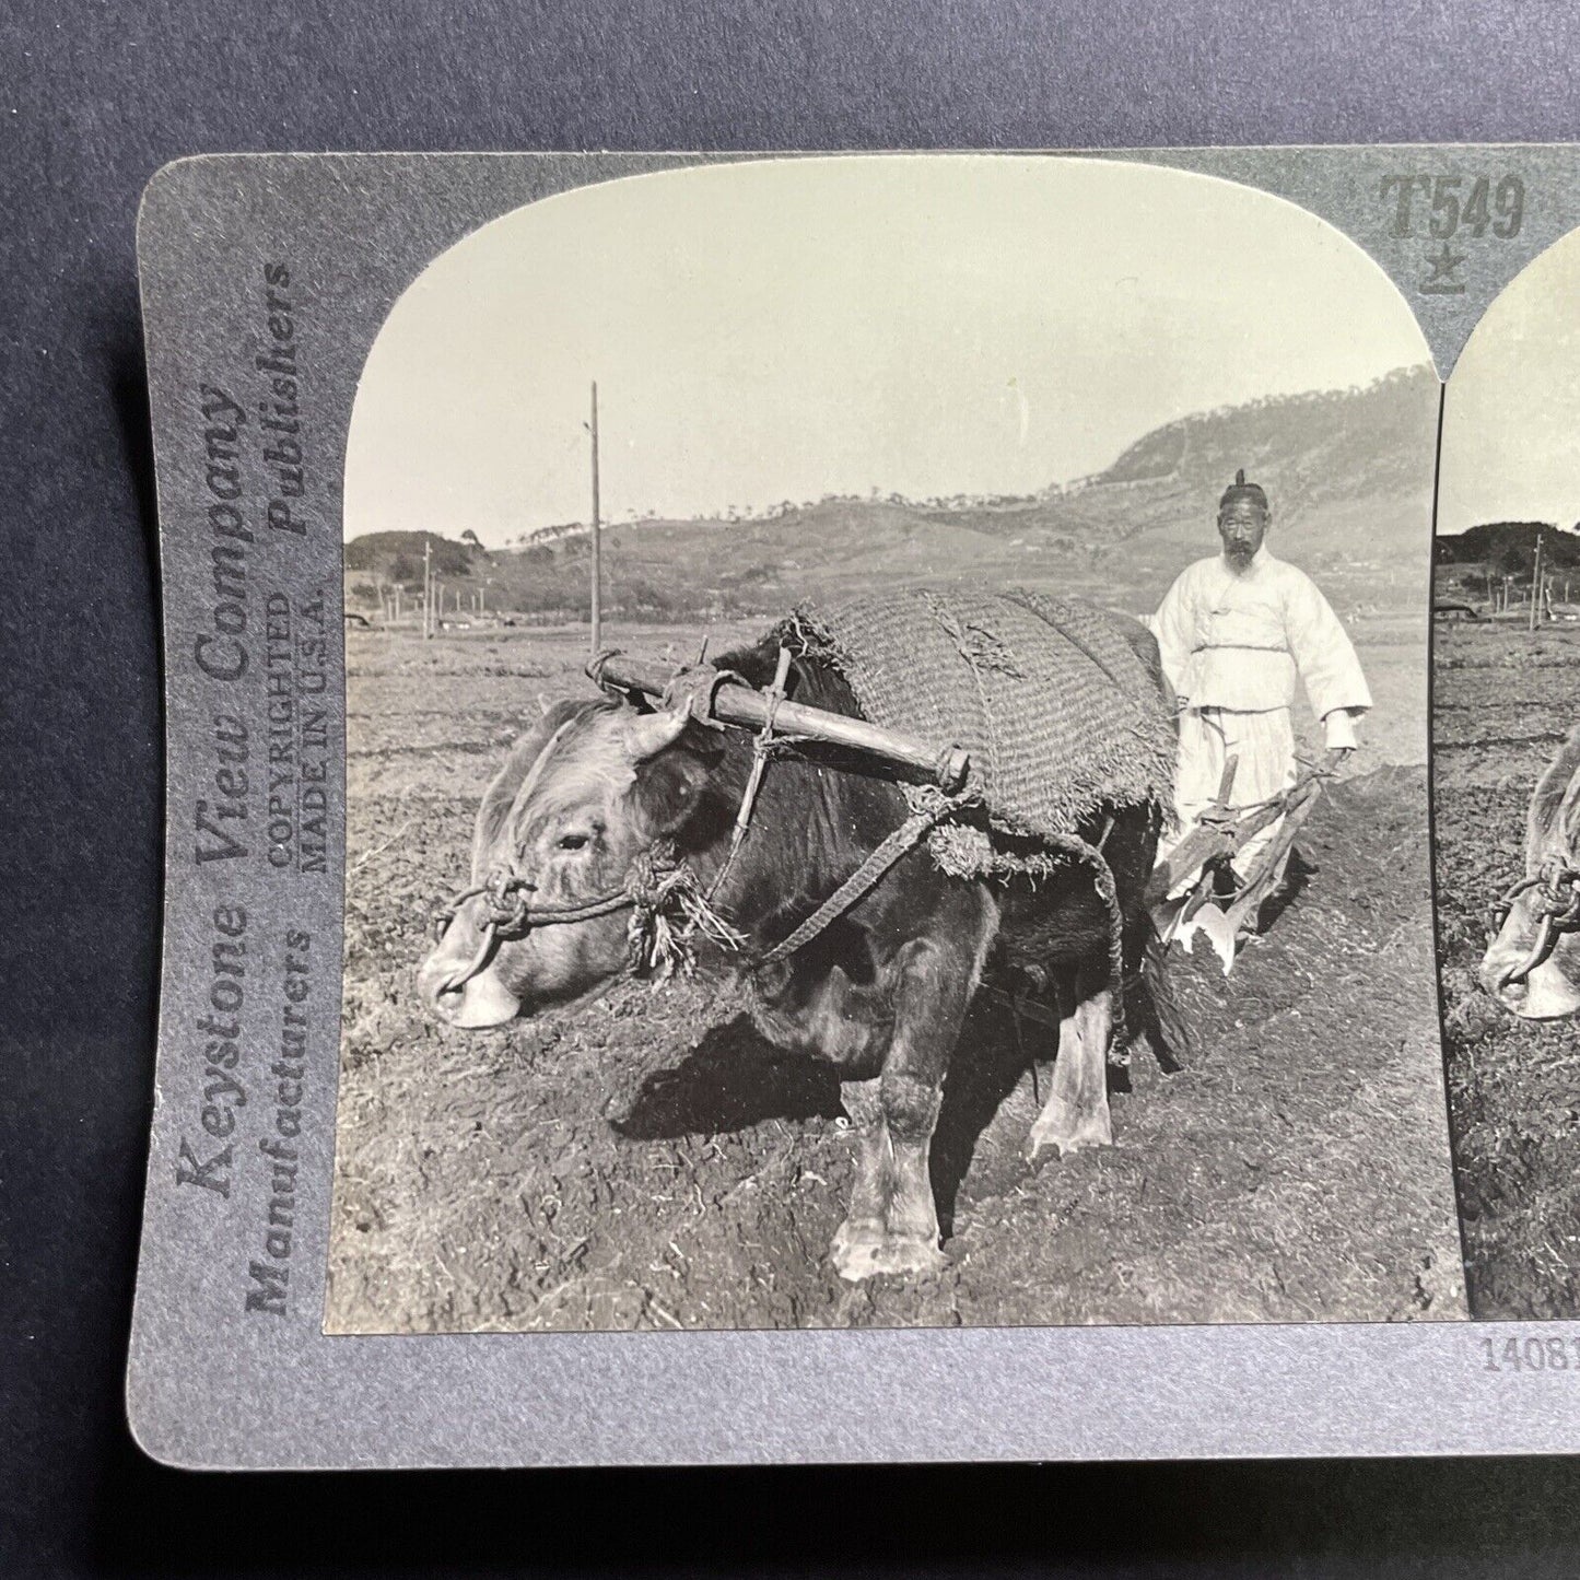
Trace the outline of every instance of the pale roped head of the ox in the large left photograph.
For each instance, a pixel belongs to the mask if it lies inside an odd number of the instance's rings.
[[[471,886],[507,878],[528,908],[545,912],[619,894],[635,860],[673,837],[706,790],[706,755],[678,744],[686,722],[684,708],[550,708],[477,809]],[[502,1025],[627,967],[629,910],[502,926],[493,939],[490,915],[487,893],[466,899],[419,970],[423,1003],[452,1025]]]

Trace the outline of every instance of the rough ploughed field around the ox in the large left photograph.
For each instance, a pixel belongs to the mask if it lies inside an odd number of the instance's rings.
[[[755,624],[755,623],[754,623]],[[428,1019],[430,918],[539,695],[585,630],[348,632],[348,878],[335,1332],[1465,1315],[1428,913],[1424,629],[1360,618],[1376,743],[1315,866],[1224,983],[1177,956],[1199,1048],[1138,1051],[1117,1146],[1032,1169],[1054,1049],[978,1010],[934,1185],[948,1269],[844,1286],[852,1180],[833,1074],[766,1049],[727,981],[626,983],[496,1032]],[[739,629],[719,632],[716,651]],[[697,634],[621,629],[687,657]]]

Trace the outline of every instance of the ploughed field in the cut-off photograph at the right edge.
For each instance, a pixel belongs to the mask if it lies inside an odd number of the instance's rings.
[[[1433,811],[1444,1052],[1476,1316],[1580,1315],[1580,1032],[1476,981],[1487,908],[1525,871],[1536,781],[1580,708],[1580,629],[1436,635]]]

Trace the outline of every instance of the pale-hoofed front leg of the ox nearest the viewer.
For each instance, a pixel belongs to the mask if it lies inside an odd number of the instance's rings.
[[[969,972],[961,970],[957,950],[932,940],[907,945],[896,962],[894,1035],[883,1073],[864,1093],[861,1108],[871,1119],[858,1146],[850,1212],[831,1250],[841,1278],[924,1273],[945,1262],[927,1152],[943,1100],[943,1074],[991,931],[981,927],[981,946]]]

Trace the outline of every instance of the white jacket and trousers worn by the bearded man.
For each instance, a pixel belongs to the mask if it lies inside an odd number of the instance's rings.
[[[1226,757],[1239,758],[1234,807],[1258,806],[1294,782],[1297,678],[1327,746],[1356,744],[1354,719],[1371,706],[1356,649],[1316,583],[1266,548],[1243,570],[1223,555],[1190,566],[1152,630],[1182,709],[1176,839],[1217,799]],[[1270,825],[1240,850],[1242,872],[1277,830]]]

